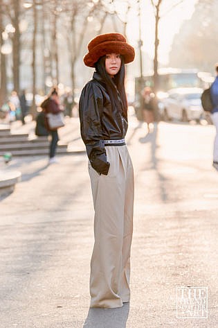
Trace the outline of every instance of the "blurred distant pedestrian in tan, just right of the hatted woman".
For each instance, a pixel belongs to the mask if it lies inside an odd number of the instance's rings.
[[[150,132],[150,124],[154,123],[154,93],[150,87],[145,87],[143,95],[143,119],[147,124],[147,132]]]

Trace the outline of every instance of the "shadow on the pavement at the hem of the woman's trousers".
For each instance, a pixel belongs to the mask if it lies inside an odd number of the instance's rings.
[[[117,309],[89,309],[83,328],[125,328],[129,316],[129,303]]]

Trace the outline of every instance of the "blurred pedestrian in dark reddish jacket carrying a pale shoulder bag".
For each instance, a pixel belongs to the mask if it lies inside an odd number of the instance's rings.
[[[56,154],[56,148],[57,148],[57,141],[59,140],[57,129],[51,130],[51,127],[48,123],[48,118],[46,117],[46,114],[57,114],[59,112],[62,112],[62,109],[60,107],[60,99],[57,94],[57,89],[53,88],[51,91],[51,94],[48,95],[48,97],[43,101],[41,104],[42,110],[45,113],[45,126],[51,135],[51,143],[49,145],[49,162],[48,164],[57,163],[57,159],[55,157]]]

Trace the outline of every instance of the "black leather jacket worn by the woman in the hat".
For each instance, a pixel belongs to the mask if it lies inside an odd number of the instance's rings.
[[[79,103],[80,131],[91,166],[107,175],[109,162],[104,140],[125,138],[128,123],[118,108],[111,107],[105,83],[96,72],[82,89]]]

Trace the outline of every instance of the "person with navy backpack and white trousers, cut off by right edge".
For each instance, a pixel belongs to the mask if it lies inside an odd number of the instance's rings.
[[[212,104],[214,106],[211,112],[212,123],[216,128],[216,135],[213,148],[213,162],[212,166],[218,171],[218,63],[215,65],[217,77],[210,87],[210,94],[212,98]]]

